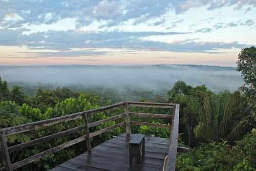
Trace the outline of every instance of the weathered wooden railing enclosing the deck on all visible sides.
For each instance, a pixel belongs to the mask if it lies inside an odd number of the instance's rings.
[[[103,120],[99,120],[96,122],[88,123],[88,116],[93,115],[99,112],[103,112],[110,109],[116,109],[123,106],[124,113],[115,115]],[[173,109],[173,115],[164,115],[164,114],[149,114],[149,113],[133,113],[129,112],[129,106],[144,106],[144,107],[153,107],[153,108],[170,108]],[[130,116],[137,116],[137,117],[150,117],[150,118],[163,118],[163,119],[172,119],[172,124],[156,124],[156,123],[148,123],[148,122],[138,122],[138,121],[130,121]],[[89,132],[89,128],[93,126],[100,125],[105,122],[113,121],[120,118],[125,118],[125,122],[117,123],[115,125],[105,127],[102,130],[95,131],[93,133]],[[35,129],[39,129],[41,127],[50,126],[58,123],[63,123],[71,120],[75,120],[78,118],[83,118],[83,125],[77,126],[72,129],[62,131],[59,133],[55,133],[52,135],[48,135],[45,137],[41,137],[38,139],[34,139],[28,142],[24,142],[21,144],[17,144],[14,146],[7,145],[6,136],[13,135],[13,134],[19,134],[24,133],[28,131],[32,131]],[[135,101],[126,101],[126,102],[120,102],[108,106],[104,106],[101,108],[89,110],[89,111],[83,111],[78,112],[66,116],[56,117],[52,119],[12,126],[12,127],[6,127],[3,129],[0,129],[0,141],[1,141],[1,156],[3,160],[4,167],[0,168],[0,171],[6,170],[10,171],[16,168],[19,168],[25,164],[28,164],[30,162],[36,161],[42,157],[45,157],[47,155],[50,155],[54,152],[59,151],[60,149],[67,148],[71,145],[74,145],[76,143],[79,143],[81,141],[86,141],[87,149],[90,152],[91,151],[91,142],[90,138],[95,137],[97,135],[100,135],[102,133],[108,132],[110,130],[113,130],[117,127],[125,126],[126,133],[131,134],[131,125],[148,125],[148,126],[155,126],[155,127],[164,127],[166,129],[171,129],[171,135],[170,135],[170,145],[169,145],[169,152],[168,152],[168,162],[166,166],[166,170],[175,170],[175,164],[176,164],[176,155],[177,155],[177,149],[178,149],[178,127],[179,127],[179,104],[172,104],[172,103],[153,103],[153,102],[135,102]],[[60,138],[62,136],[66,136],[69,134],[76,133],[78,131],[85,131],[85,135],[81,136],[79,138],[76,138],[74,140],[71,140],[69,142],[60,144],[58,146],[55,146],[53,148],[50,148],[44,152],[38,153],[34,156],[28,157],[26,159],[20,160],[16,163],[11,163],[9,153],[18,151],[23,148],[27,148],[30,146],[33,146],[35,144],[39,144],[42,142],[46,142],[55,138]],[[182,151],[182,148],[180,148],[180,151]]]

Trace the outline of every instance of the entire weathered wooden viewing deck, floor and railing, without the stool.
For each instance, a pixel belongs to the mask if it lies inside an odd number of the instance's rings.
[[[154,114],[154,113],[134,113],[130,112],[130,106],[136,107],[147,107],[147,108],[165,108],[166,110],[171,110],[164,114]],[[78,113],[73,113],[65,116],[59,116],[56,118],[50,118],[46,120],[41,120],[32,123],[26,123],[11,127],[4,127],[0,129],[0,155],[4,164],[4,167],[0,168],[0,171],[13,171],[19,167],[22,167],[33,161],[37,161],[45,156],[59,151],[60,149],[67,148],[74,144],[82,141],[86,141],[84,145],[87,145],[87,153],[84,153],[66,163],[59,165],[53,170],[162,170],[163,159],[168,154],[168,159],[165,162],[165,171],[175,171],[177,151],[187,152],[188,148],[178,147],[178,130],[179,130],[179,104],[173,103],[155,103],[155,102],[138,102],[138,101],[123,101],[108,106],[103,106],[96,109],[91,109],[88,111],[82,111]],[[104,112],[108,110],[113,110],[117,108],[123,108],[124,113],[117,114],[102,120],[90,122],[88,117],[95,115],[99,112]],[[133,116],[130,120],[130,117]],[[172,124],[158,124],[158,123],[148,123],[136,121],[136,117],[149,117],[149,118],[162,118],[172,121]],[[73,127],[69,130],[61,131],[48,136],[40,137],[27,142],[19,143],[13,146],[8,146],[6,137],[9,135],[15,135],[20,133],[25,133],[43,127],[56,125],[64,122],[68,122],[76,119],[83,119],[83,125]],[[125,121],[120,122],[118,119],[123,118]],[[114,125],[104,127],[101,130],[90,133],[90,127],[101,125],[109,121],[116,121]],[[147,125],[154,127],[163,127],[165,129],[170,129],[170,139],[161,139],[146,137],[146,148],[145,148],[145,158],[142,164],[129,164],[128,155],[128,140],[126,135],[131,134],[131,126],[133,125]],[[127,134],[122,134],[117,138],[111,139],[104,142],[91,149],[91,140],[93,137],[100,134],[106,133],[108,131],[114,130],[117,127],[125,126]],[[44,143],[56,138],[61,138],[63,136],[68,136],[70,134],[76,134],[78,131],[84,131],[84,135],[79,138],[70,140],[68,142],[59,144],[44,152],[37,153],[33,156],[29,156],[23,160],[11,162],[10,153],[17,152],[20,149],[34,146],[36,144]],[[91,153],[90,153],[91,152]]]

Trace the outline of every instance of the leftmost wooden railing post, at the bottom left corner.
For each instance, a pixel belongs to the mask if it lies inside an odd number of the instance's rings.
[[[11,159],[8,152],[6,137],[4,134],[0,134],[0,141],[1,141],[1,147],[2,147],[1,156],[2,156],[5,170],[12,171],[13,170],[12,163],[11,163]]]

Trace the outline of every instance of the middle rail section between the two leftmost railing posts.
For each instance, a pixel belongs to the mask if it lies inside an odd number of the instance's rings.
[[[52,135],[49,135],[49,136],[46,136],[46,137],[37,138],[37,139],[31,140],[31,141],[28,141],[28,142],[25,142],[25,143],[22,143],[22,144],[17,144],[17,145],[14,145],[14,146],[10,146],[10,147],[8,147],[8,151],[9,151],[9,153],[15,152],[15,151],[18,151],[18,150],[23,149],[23,148],[27,148],[27,147],[35,145],[35,144],[46,142],[46,141],[49,141],[49,140],[52,140],[52,139],[55,139],[55,138],[59,138],[59,137],[62,137],[62,136],[66,136],[66,135],[69,135],[69,134],[74,134],[78,131],[82,131],[83,129],[84,129],[84,125],[77,126],[77,127],[74,127],[73,129],[62,131],[62,132],[52,134]]]

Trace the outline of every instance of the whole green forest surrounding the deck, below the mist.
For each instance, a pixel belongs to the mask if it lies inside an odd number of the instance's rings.
[[[0,77],[0,128],[90,110],[124,98],[134,100],[135,97],[139,101],[179,103],[179,145],[189,147],[189,153],[178,154],[177,170],[256,170],[256,48],[242,49],[237,65],[237,71],[242,74],[245,84],[232,92],[228,90],[215,92],[207,85],[191,86],[179,80],[169,88],[167,94],[131,90],[126,91],[126,96],[120,97],[115,90],[101,88],[78,90],[75,87],[38,88],[31,86],[32,90],[28,90],[24,86],[13,84],[10,86]],[[132,110],[138,109],[134,107]],[[157,113],[154,110],[158,109],[143,110],[145,113]],[[98,113],[90,117],[89,121],[104,119],[115,114],[120,114],[120,110]],[[147,121],[168,123],[161,119],[147,119]],[[94,129],[99,130],[114,123],[110,121]],[[10,135],[7,137],[8,145],[26,142],[80,125],[82,125],[82,120],[76,120],[25,134]],[[96,146],[122,132],[124,130],[118,128],[104,133],[94,138],[92,145]],[[163,138],[170,136],[170,130],[150,126],[137,126],[132,132]],[[81,131],[72,136],[54,139],[48,143],[10,153],[11,160],[12,162],[19,161],[82,134],[84,133]],[[19,170],[49,170],[84,151],[86,151],[86,146],[78,143],[25,165]],[[0,168],[2,166],[0,162]]]

